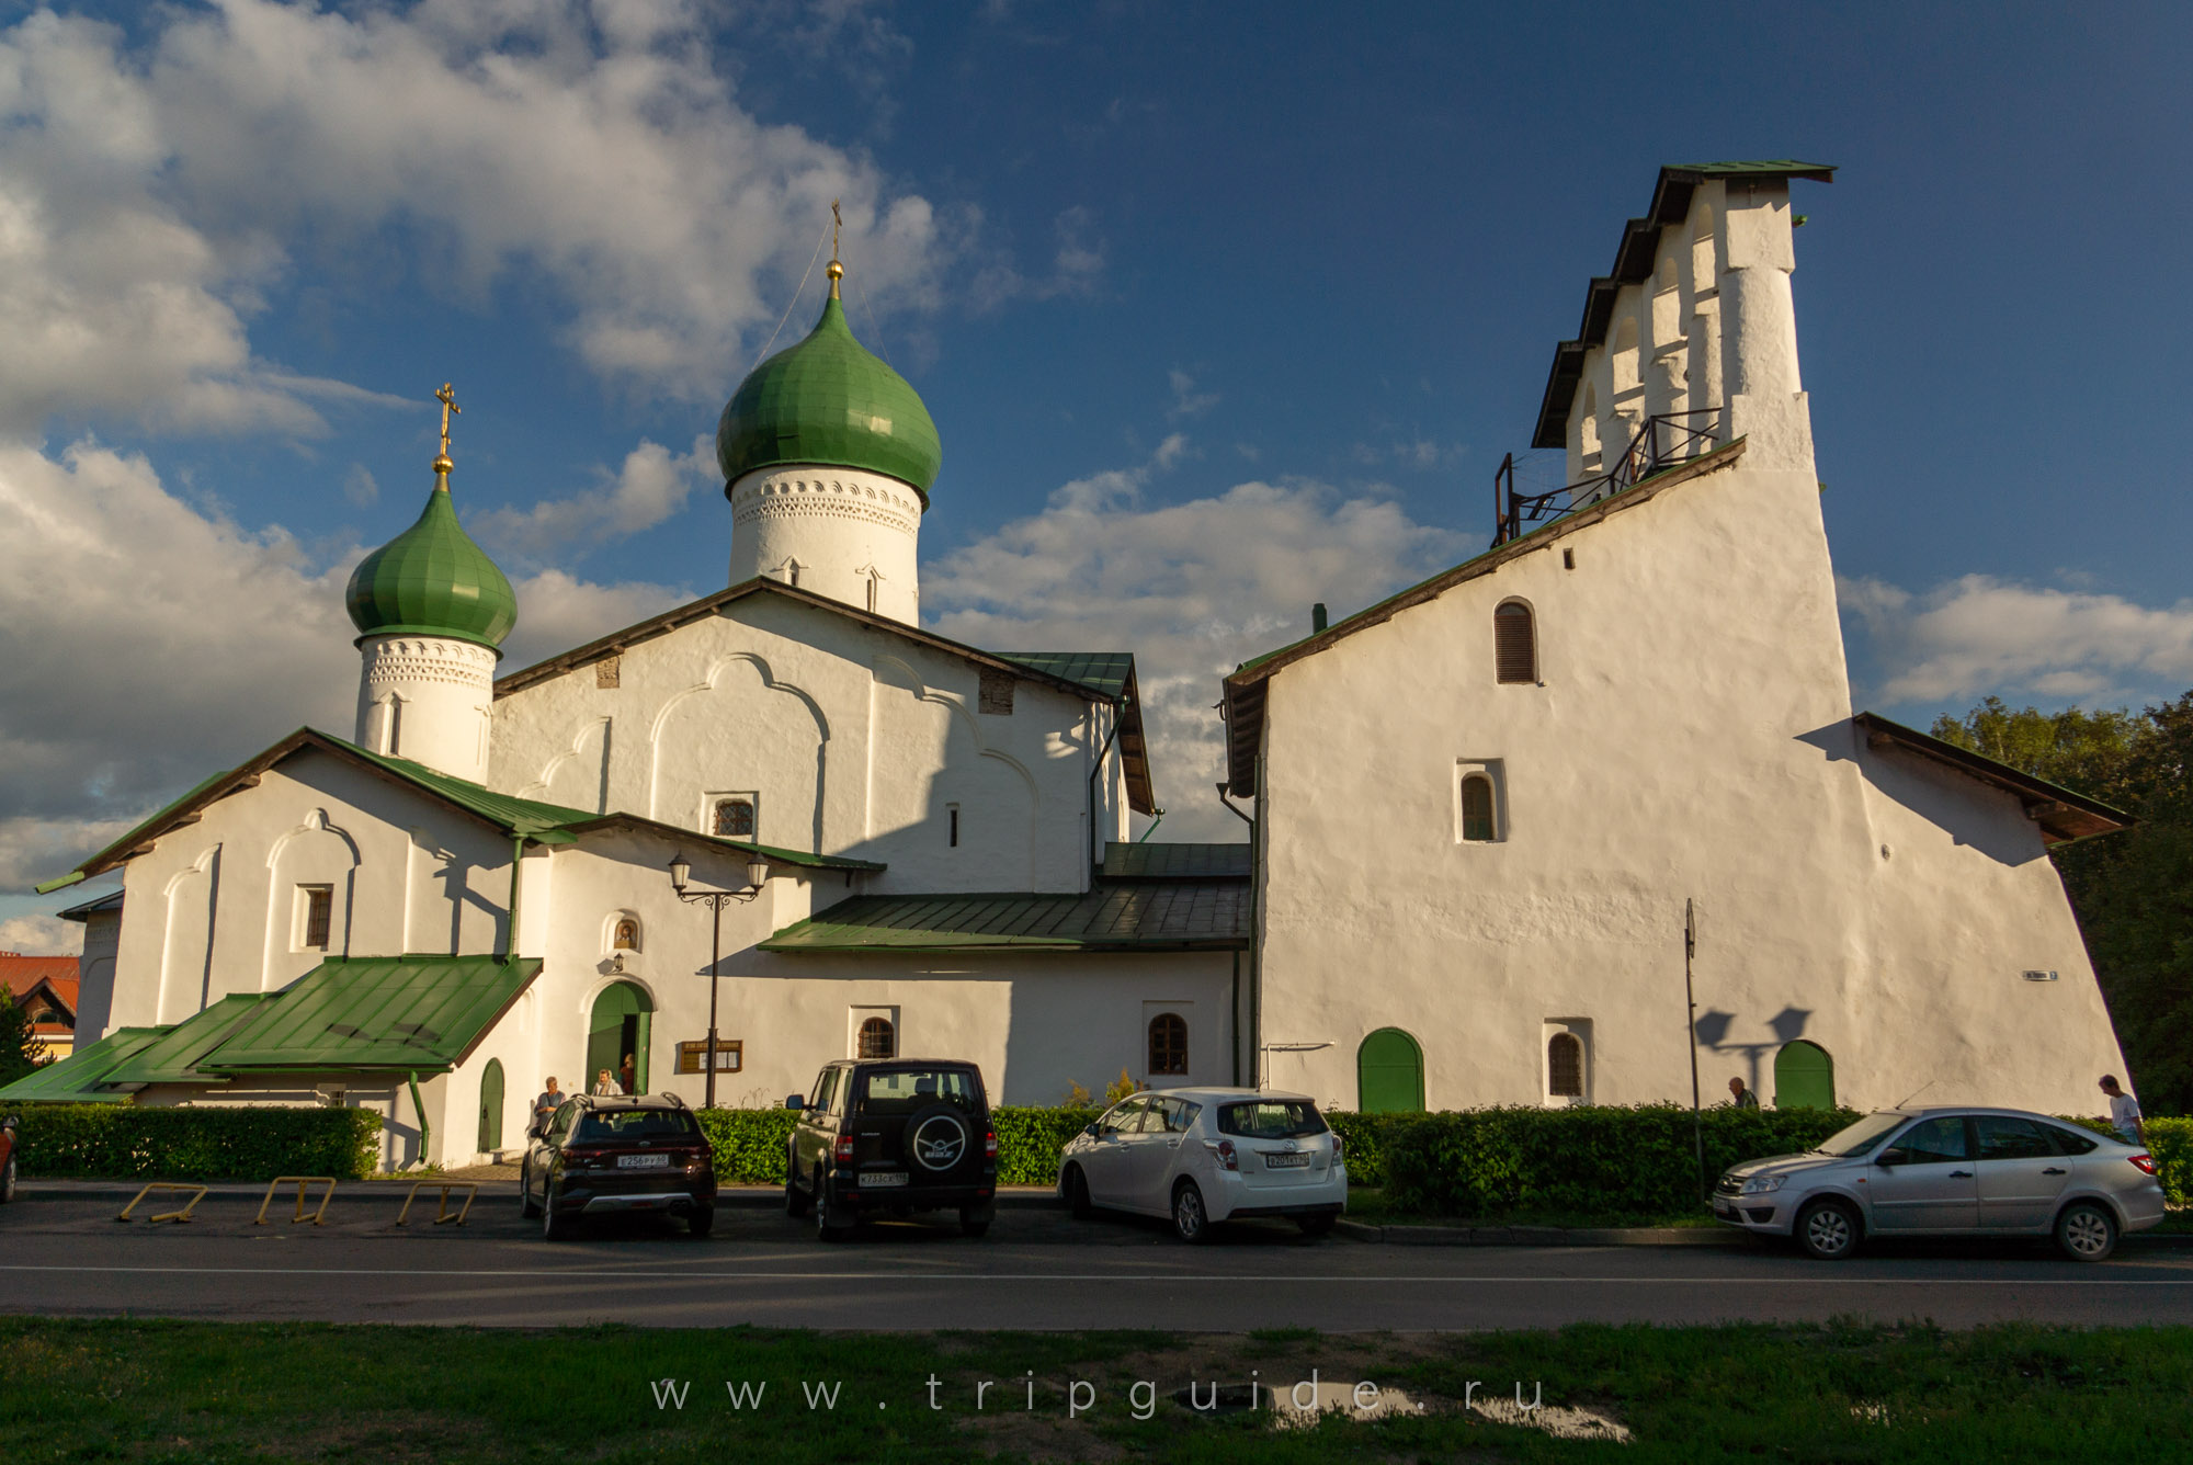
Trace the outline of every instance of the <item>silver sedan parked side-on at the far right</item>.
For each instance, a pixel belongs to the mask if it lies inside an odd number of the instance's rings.
[[[1737,1165],[1713,1193],[1730,1226],[1840,1261],[1866,1237],[2053,1235],[2101,1261],[2162,1219],[2162,1180],[2138,1145],[2024,1110],[1879,1110],[1818,1149]]]

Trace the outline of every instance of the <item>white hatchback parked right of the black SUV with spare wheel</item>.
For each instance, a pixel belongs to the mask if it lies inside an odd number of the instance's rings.
[[[1162,1215],[1182,1241],[1252,1215],[1289,1217],[1322,1237],[1349,1204],[1349,1169],[1318,1105],[1254,1088],[1169,1088],[1132,1094],[1059,1156],[1059,1197],[1075,1215],[1096,1206]]]

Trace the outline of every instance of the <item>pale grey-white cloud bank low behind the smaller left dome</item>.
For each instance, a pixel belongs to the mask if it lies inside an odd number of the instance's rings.
[[[140,456],[0,443],[0,890],[72,868],[211,772],[298,726],[349,735],[357,546],[316,564],[287,531],[173,496]],[[686,599],[561,570],[518,581],[504,667]]]

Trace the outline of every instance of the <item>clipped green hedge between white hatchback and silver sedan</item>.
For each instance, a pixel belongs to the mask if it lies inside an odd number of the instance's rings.
[[[1811,1149],[1855,1118],[1849,1110],[1706,1110],[1706,1176]],[[1669,1215],[1704,1204],[1691,1110],[1673,1103],[1419,1114],[1388,1125],[1384,1138],[1386,1195],[1404,1211]]]

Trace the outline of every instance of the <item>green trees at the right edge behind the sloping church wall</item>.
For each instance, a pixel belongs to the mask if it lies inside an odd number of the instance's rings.
[[[2086,932],[2140,1103],[2193,1114],[2193,693],[2088,713],[1985,700],[1934,737],[2138,818],[2050,851]]]

